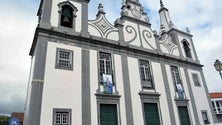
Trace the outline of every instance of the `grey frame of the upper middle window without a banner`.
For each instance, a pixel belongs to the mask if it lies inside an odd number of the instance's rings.
[[[147,63],[147,65],[146,66],[145,65],[141,65],[141,63]],[[140,81],[141,81],[142,88],[155,89],[153,73],[152,73],[152,67],[151,67],[150,61],[139,59],[138,60],[138,67],[139,67],[139,74],[140,74]],[[150,81],[147,81],[146,79],[143,80],[141,68],[143,68],[143,73],[144,73],[145,77],[149,77],[150,76]],[[148,74],[146,74],[147,73],[146,70],[148,70]],[[148,85],[149,82],[150,82],[151,85]]]

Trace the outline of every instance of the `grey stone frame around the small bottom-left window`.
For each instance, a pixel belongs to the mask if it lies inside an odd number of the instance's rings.
[[[68,114],[68,123],[64,123],[64,125],[72,125],[72,109],[65,109],[65,108],[53,108],[53,122],[52,122],[52,125],[63,125],[61,123],[56,123],[57,122],[57,113],[60,113],[60,114],[65,114],[67,113]],[[62,116],[61,116],[62,117]],[[62,122],[62,118],[61,118],[61,121]]]

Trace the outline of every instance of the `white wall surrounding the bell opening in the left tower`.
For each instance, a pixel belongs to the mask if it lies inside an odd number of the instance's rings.
[[[50,23],[52,26],[54,27],[58,27],[59,26],[59,7],[58,4],[61,2],[64,2],[65,0],[52,0],[52,10],[51,10],[51,19],[50,19]],[[77,13],[76,13],[76,24],[75,24],[75,28],[77,32],[81,31],[81,24],[82,24],[82,5],[80,3],[74,2],[74,1],[69,1],[71,2],[77,9]]]

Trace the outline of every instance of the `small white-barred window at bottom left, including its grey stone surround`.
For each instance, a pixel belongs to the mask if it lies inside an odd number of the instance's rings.
[[[53,109],[53,125],[71,125],[71,109]]]

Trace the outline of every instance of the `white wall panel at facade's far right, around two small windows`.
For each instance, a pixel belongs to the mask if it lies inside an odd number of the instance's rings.
[[[200,123],[203,124],[201,110],[207,110],[208,119],[209,119],[210,123],[213,123],[213,117],[211,115],[210,105],[208,103],[208,98],[207,98],[207,94],[206,94],[206,91],[205,91],[205,88],[203,85],[201,73],[199,71],[195,71],[195,70],[188,70],[188,73],[189,73],[189,78],[190,78],[190,82],[191,82],[192,91],[194,94],[195,104],[196,104]],[[192,73],[198,74],[201,87],[197,87],[194,85]]]

